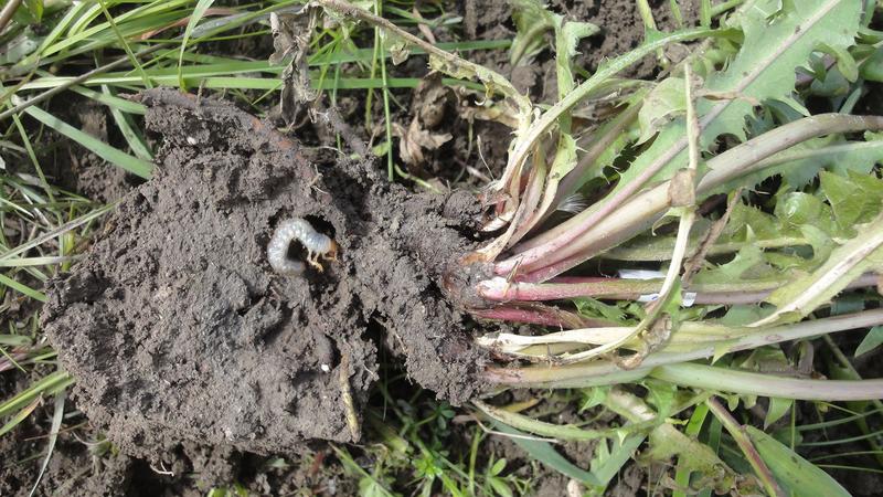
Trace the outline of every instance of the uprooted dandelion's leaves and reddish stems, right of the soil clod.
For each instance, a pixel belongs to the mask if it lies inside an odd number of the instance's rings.
[[[883,38],[869,28],[870,3],[749,0],[728,2],[713,22],[703,14],[693,29],[660,32],[649,22],[642,45],[581,77],[573,61],[595,28],[514,1],[521,19],[535,21],[520,23],[513,56],[552,33],[557,101],[550,106],[358,7],[316,3],[426,50],[437,71],[478,80],[481,105],[510,117],[508,162],[481,194],[487,241],[451,269],[450,281],[470,283],[448,289],[476,317],[545,331],[479,337],[498,358],[489,381],[597,391],[596,404],[630,423],[657,420],[652,454],[679,457],[681,482],[725,490],[737,486],[733,470],[689,437],[675,443],[684,435],[662,421],[702,408],[732,433],[758,487],[776,495],[799,485],[765,463],[770,441],[740,431],[715,393],[728,395],[731,409],[738,399],[772,398],[769,421],[795,399],[883,398],[881,380],[800,372],[800,359],[783,349],[883,325],[883,117],[853,112],[865,80],[879,78]],[[664,59],[666,70],[655,81],[628,78],[647,56]],[[600,99],[615,102],[613,115],[577,126],[574,112]],[[587,207],[568,214],[574,198]],[[762,355],[795,376],[764,373]],[[635,384],[698,396],[651,408],[628,393]],[[476,405],[538,435],[594,436]],[[680,448],[664,445],[672,443]]]

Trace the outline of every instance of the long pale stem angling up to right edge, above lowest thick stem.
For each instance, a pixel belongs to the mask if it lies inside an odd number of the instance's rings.
[[[525,368],[488,368],[485,378],[491,383],[509,387],[531,388],[583,388],[616,384],[632,381],[649,374],[655,367],[677,364],[696,359],[722,356],[740,350],[755,349],[765,345],[826,335],[850,329],[862,329],[883,325],[883,309],[864,310],[794,325],[777,326],[763,330],[727,328],[722,326],[684,322],[678,331],[712,331],[719,339],[712,343],[698,343],[687,351],[667,351],[668,348],[647,357],[641,367],[623,371],[610,361],[594,361],[585,364],[543,366]]]

